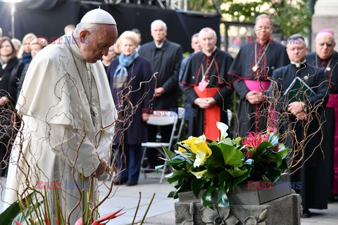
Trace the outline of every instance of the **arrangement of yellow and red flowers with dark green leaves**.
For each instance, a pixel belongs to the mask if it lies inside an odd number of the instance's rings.
[[[163,147],[167,159],[165,165],[173,167],[168,182],[175,183],[175,191],[168,197],[178,198],[178,193],[193,191],[196,198],[202,189],[201,203],[213,208],[211,195],[216,193],[216,204],[229,207],[227,194],[237,184],[245,181],[275,182],[288,168],[286,156],[289,148],[278,142],[278,135],[271,129],[265,133],[249,132],[246,137],[230,139],[227,125],[217,122],[220,140],[207,140],[206,136],[190,136],[176,143],[173,153]],[[164,165],[156,167],[157,170]]]

